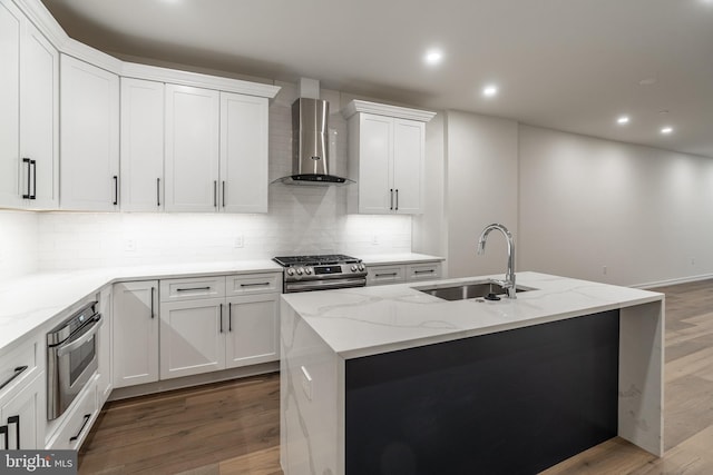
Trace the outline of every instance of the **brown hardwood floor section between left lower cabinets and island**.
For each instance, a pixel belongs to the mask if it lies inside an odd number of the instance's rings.
[[[108,403],[80,474],[258,474],[280,469],[280,376]]]

